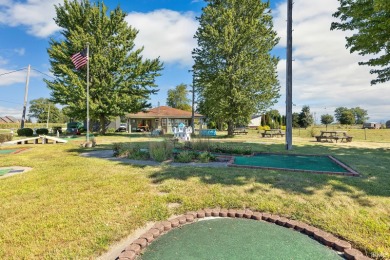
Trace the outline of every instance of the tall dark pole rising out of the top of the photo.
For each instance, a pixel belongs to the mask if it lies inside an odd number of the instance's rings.
[[[292,0],[287,0],[286,150],[292,149]]]

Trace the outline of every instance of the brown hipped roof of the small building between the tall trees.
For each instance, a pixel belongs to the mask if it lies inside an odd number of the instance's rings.
[[[195,117],[203,117],[203,115],[195,113]],[[159,106],[152,109],[149,109],[146,112],[138,112],[135,114],[127,114],[128,118],[191,118],[192,112],[185,111],[177,108],[172,108],[168,106]]]

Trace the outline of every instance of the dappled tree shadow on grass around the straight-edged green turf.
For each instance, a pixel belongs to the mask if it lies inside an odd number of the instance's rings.
[[[248,144],[245,144],[248,145]],[[390,196],[390,151],[385,149],[365,149],[335,146],[297,147],[292,152],[284,149],[284,144],[250,144],[256,152],[280,152],[287,154],[318,154],[332,155],[360,173],[360,177],[336,176],[325,174],[300,173],[264,169],[240,168],[193,168],[193,167],[165,167],[149,177],[155,184],[167,180],[188,180],[196,177],[205,184],[221,184],[242,186],[250,183],[271,185],[273,188],[286,190],[292,193],[314,194],[316,190],[330,187],[327,196],[334,196],[334,192],[350,194],[351,198],[364,206],[370,201],[365,195]],[[247,192],[254,193],[251,187]]]

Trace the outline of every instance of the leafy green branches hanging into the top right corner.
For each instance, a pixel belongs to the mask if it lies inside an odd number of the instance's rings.
[[[359,65],[375,67],[377,74],[371,85],[390,80],[390,1],[338,0],[340,7],[333,14],[341,22],[333,22],[331,30],[354,31],[346,37],[346,47],[360,55],[374,55]]]

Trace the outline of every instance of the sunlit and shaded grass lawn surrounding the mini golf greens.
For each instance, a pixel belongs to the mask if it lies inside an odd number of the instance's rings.
[[[95,258],[149,221],[205,207],[251,208],[301,220],[350,241],[367,255],[390,258],[390,131],[386,131],[381,142],[357,138],[343,144],[317,143],[294,133],[289,153],[330,154],[361,177],[140,167],[80,157],[86,151],[79,148],[83,140],[23,145],[32,149],[0,154],[3,167],[33,168],[0,180],[0,259]],[[96,149],[109,149],[113,142],[147,145],[161,138],[111,134],[96,140]],[[256,131],[210,141],[234,142],[258,152],[286,152],[283,139],[260,138]],[[20,147],[6,149],[13,148]],[[170,208],[169,203],[180,207]]]

